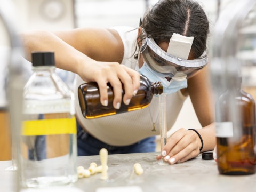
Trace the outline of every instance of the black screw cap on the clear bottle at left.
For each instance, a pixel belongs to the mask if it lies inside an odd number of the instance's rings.
[[[55,66],[54,52],[33,51],[32,66]]]

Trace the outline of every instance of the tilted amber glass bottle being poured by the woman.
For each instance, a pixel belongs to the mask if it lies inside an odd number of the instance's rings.
[[[113,107],[113,87],[111,87],[109,83],[107,85],[107,89],[109,102],[108,106],[103,106],[100,102],[100,93],[97,83],[84,83],[78,87],[79,105],[85,118],[93,119],[142,109],[150,104],[153,95],[163,93],[163,85],[161,82],[151,83],[145,76],[140,75],[140,87],[137,94],[132,97],[129,105],[125,105],[122,102],[121,107],[119,109],[115,109]]]

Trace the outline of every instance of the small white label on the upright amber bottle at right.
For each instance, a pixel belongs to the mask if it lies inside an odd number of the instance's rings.
[[[232,122],[216,122],[216,137],[233,137],[233,123]]]

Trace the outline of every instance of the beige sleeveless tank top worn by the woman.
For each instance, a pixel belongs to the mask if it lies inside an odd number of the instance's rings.
[[[124,43],[124,58],[122,65],[138,70],[138,62],[134,59],[134,51],[138,29],[131,27],[114,27]],[[84,81],[76,75],[75,87],[83,84]],[[81,126],[93,135],[93,137],[113,146],[126,146],[138,142],[142,139],[153,135],[159,135],[159,110],[158,97],[154,96],[150,105],[146,108],[130,111],[107,117],[96,119],[85,119],[79,107],[77,88],[75,92],[76,116]],[[180,91],[167,95],[166,97],[166,114],[167,130],[170,130],[177,119],[183,102],[187,97],[183,96]],[[153,130],[153,123],[155,129]]]

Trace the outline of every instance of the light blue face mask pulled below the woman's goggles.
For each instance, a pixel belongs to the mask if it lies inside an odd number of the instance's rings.
[[[163,84],[163,93],[171,94],[174,92],[179,91],[180,89],[187,88],[188,83],[187,79],[183,80],[173,80],[168,81],[165,77],[166,74],[158,73],[157,71],[154,71],[151,69],[146,62],[144,62],[143,66],[138,70],[141,75],[144,75],[149,79],[150,82],[161,82]]]

